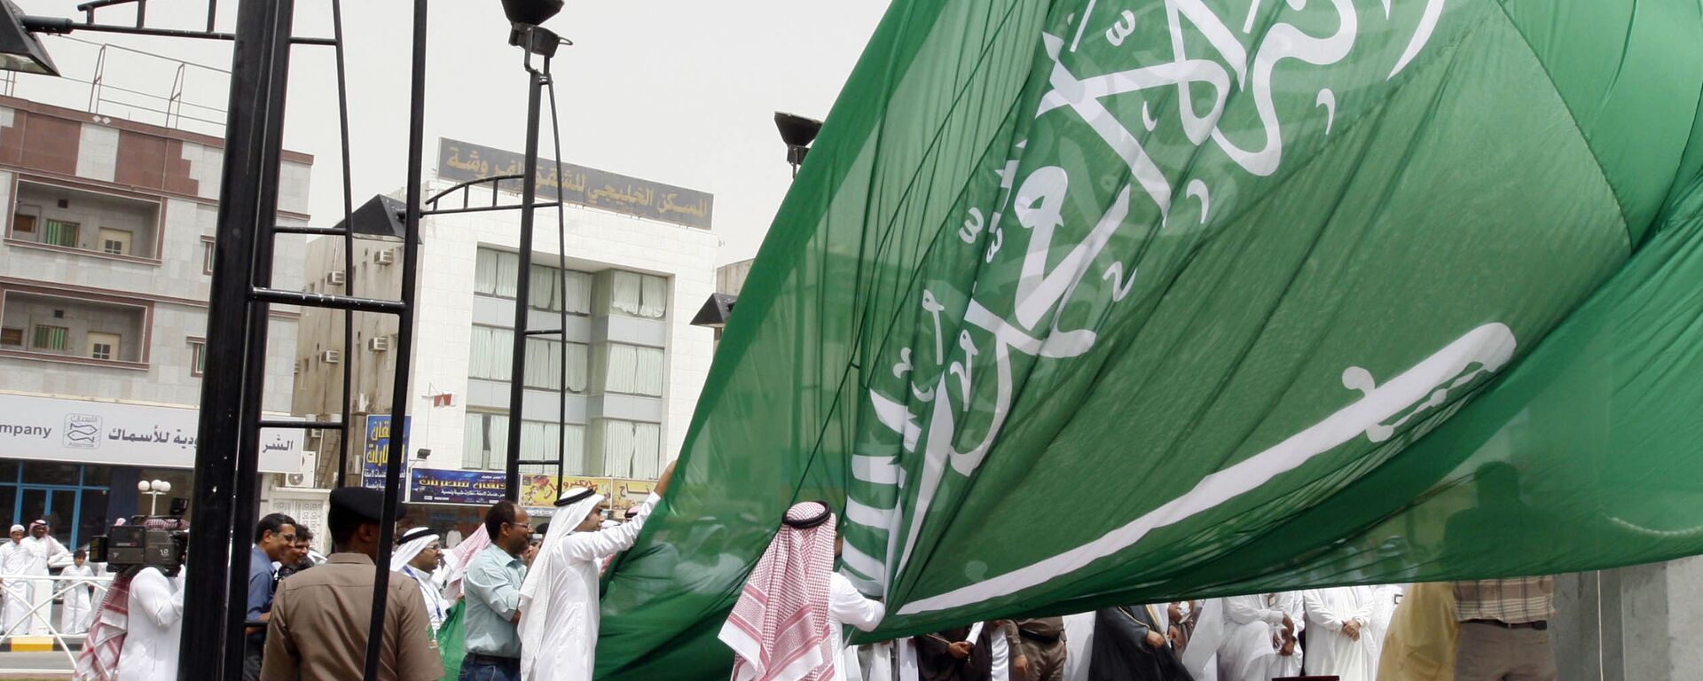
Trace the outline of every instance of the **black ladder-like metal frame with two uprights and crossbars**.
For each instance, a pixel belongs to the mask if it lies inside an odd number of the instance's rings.
[[[140,9],[138,9],[140,10]],[[90,22],[92,22],[92,9]],[[293,0],[244,0],[235,34],[215,34],[216,0],[208,3],[208,31],[192,37],[233,39],[233,68],[220,216],[215,242],[211,300],[208,306],[208,371],[203,378],[201,424],[196,448],[196,485],[189,570],[196,589],[186,594],[184,645],[179,679],[233,679],[245,654],[249,545],[259,514],[261,431],[267,427],[330,429],[341,432],[337,482],[347,475],[353,369],[344,363],[341,421],[269,421],[261,417],[266,388],[266,344],[272,305],[300,305],[344,312],[344,351],[353,346],[356,312],[395,315],[399,322],[393,373],[399,395],[392,422],[407,419],[409,368],[414,351],[414,308],[419,260],[421,182],[424,167],[426,0],[414,0],[412,82],[409,97],[407,215],[402,247],[400,300],[354,295],[313,295],[272,286],[272,250],[278,235],[342,237],[346,289],[354,286],[354,220],[349,180],[349,117],[344,75],[342,9],[332,2],[334,39],[291,36]],[[138,12],[140,14],[140,12]],[[78,26],[82,29],[82,26]],[[182,34],[143,29],[145,34]],[[279,167],[283,160],[284,89],[291,44],[330,44],[337,49],[337,95],[342,128],[344,221],[337,228],[286,228],[276,225]],[[380,555],[373,565],[373,611],[368,632],[383,630],[395,543],[395,516],[402,497],[402,438],[390,439],[385,470],[385,507]],[[364,678],[376,679],[383,637],[370,637]],[[216,650],[216,654],[208,654]]]

